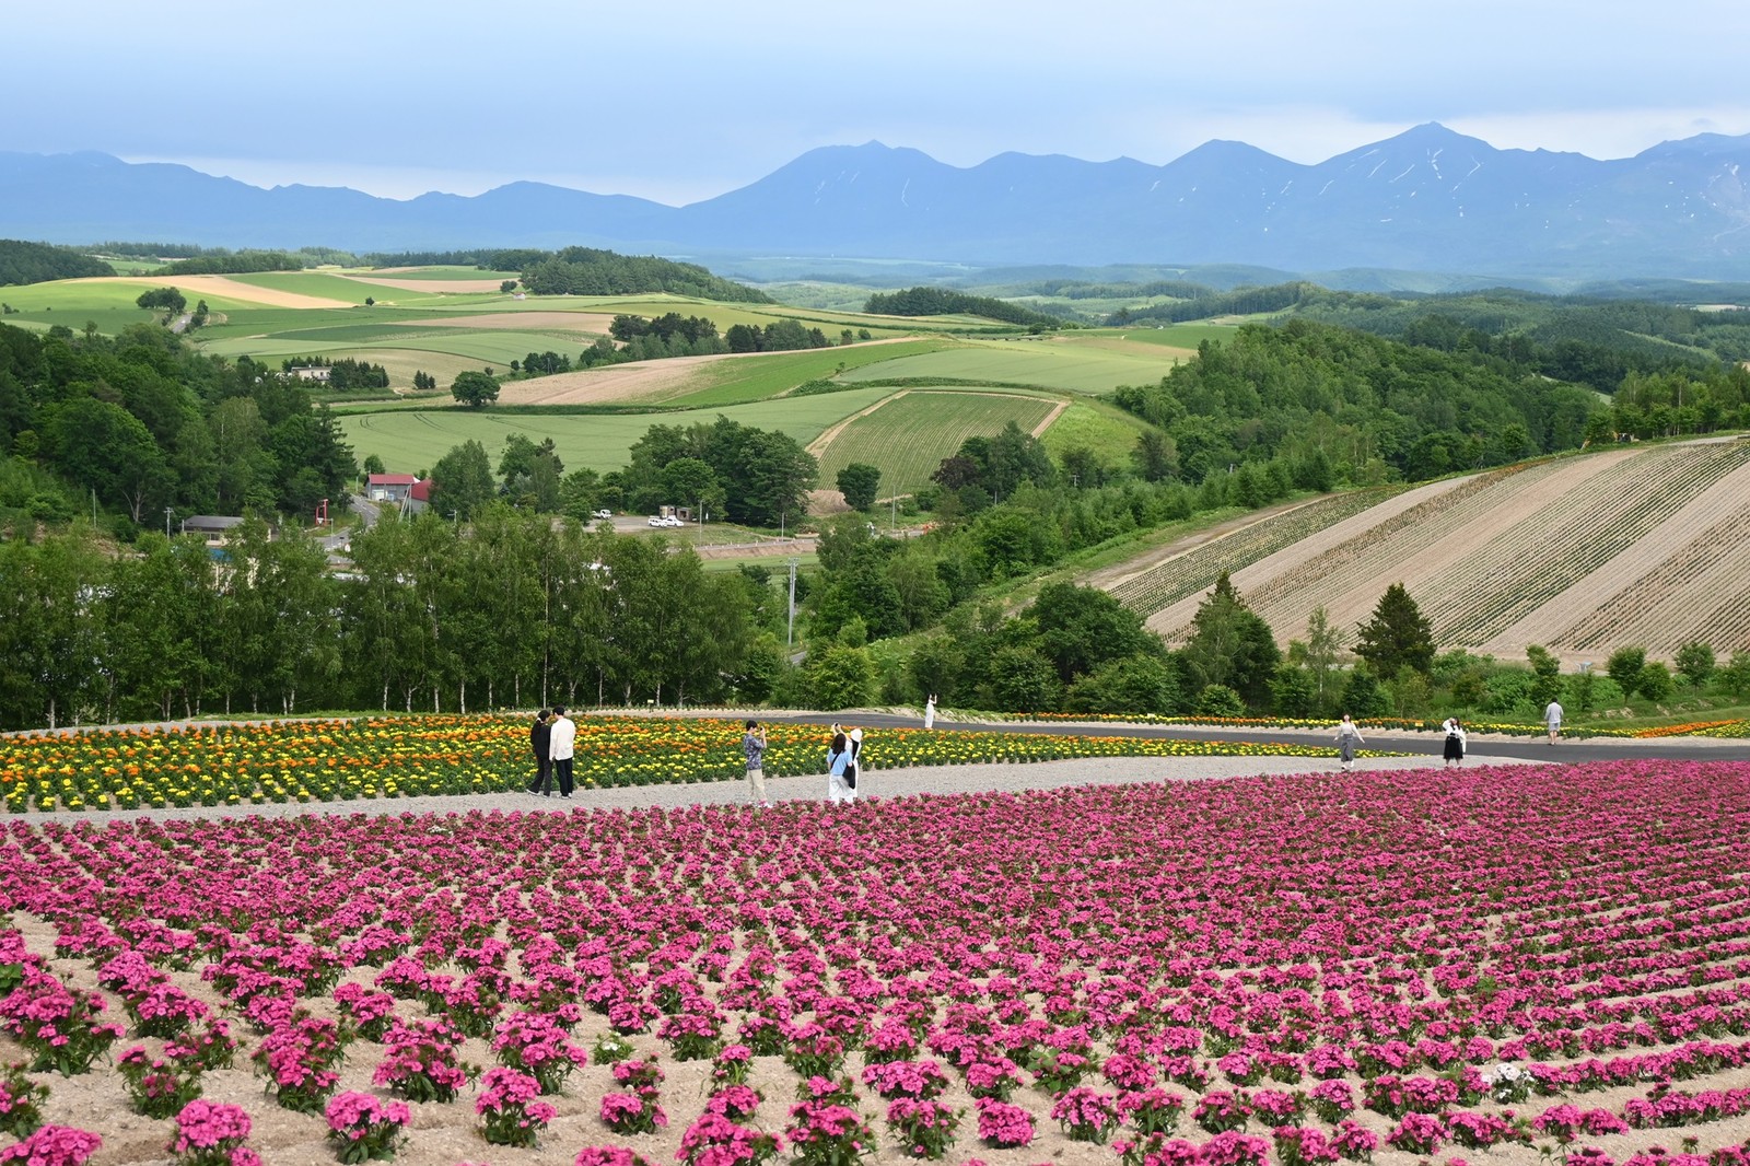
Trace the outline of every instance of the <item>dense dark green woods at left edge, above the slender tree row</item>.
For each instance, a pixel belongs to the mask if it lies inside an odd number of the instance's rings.
[[[0,324],[0,530],[93,499],[133,537],[173,513],[343,509],[340,424],[280,369],[194,354],[156,324],[121,336]]]

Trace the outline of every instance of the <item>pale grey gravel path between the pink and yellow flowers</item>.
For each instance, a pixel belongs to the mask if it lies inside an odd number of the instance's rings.
[[[1479,762],[1480,765],[1482,762]],[[1514,758],[1491,758],[1488,763],[1524,765]],[[1384,756],[1356,758],[1358,770],[1424,770],[1440,769],[1437,756]],[[1477,765],[1472,765],[1472,769]],[[1062,786],[1130,784],[1155,781],[1209,781],[1220,777],[1251,777],[1258,774],[1335,772],[1335,760],[1306,756],[1102,756],[1064,762],[1032,762],[1003,765],[920,765],[915,769],[864,770],[859,793],[864,798],[915,797],[926,793],[1020,793],[1024,790],[1057,790]],[[766,797],[777,802],[824,802],[826,776],[802,777],[766,776]],[[457,797],[369,798],[355,802],[264,802],[245,805],[189,805],[131,811],[86,811],[5,814],[5,821],[131,821],[131,819],[196,819],[196,818],[292,818],[303,814],[467,814],[467,812],[567,812],[590,809],[637,809],[646,805],[742,805],[747,802],[746,781],[677,783],[662,786],[616,786],[611,790],[578,790],[570,798],[539,797],[532,793],[481,793]]]

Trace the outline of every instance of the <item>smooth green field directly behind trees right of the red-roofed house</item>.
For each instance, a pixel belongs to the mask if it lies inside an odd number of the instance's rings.
[[[532,441],[553,438],[553,446],[567,471],[581,467],[609,471],[626,464],[626,452],[654,424],[710,424],[723,415],[744,425],[777,429],[807,445],[835,422],[875,404],[889,392],[892,390],[856,389],[674,413],[546,413],[494,406],[483,410],[399,408],[343,413],[340,422],[359,460],[364,460],[368,453],[376,453],[396,473],[429,469],[453,446],[469,439],[485,445],[486,453],[497,464],[504,439],[513,432]]]

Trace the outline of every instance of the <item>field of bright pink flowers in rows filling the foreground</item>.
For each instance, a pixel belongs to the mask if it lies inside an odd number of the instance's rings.
[[[1750,1164],[1746,872],[1741,763],[14,821],[0,1164]]]

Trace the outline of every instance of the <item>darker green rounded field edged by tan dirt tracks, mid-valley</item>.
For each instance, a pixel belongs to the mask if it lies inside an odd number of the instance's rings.
[[[966,438],[989,438],[1008,422],[1031,431],[1055,404],[1048,397],[912,389],[833,438],[821,453],[821,485],[831,487],[850,462],[866,462],[880,469],[882,497],[912,494],[929,485],[929,474]]]

